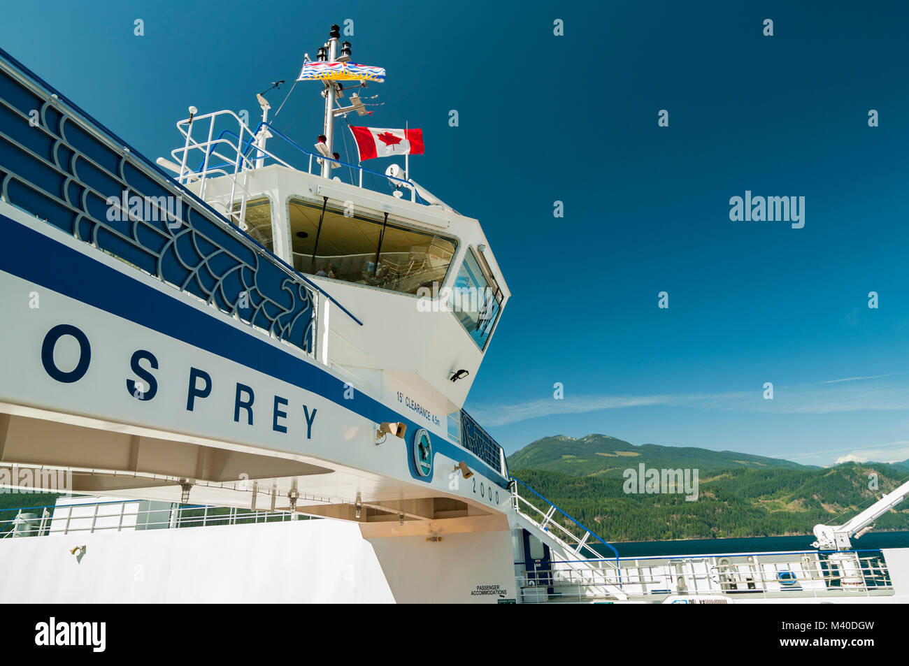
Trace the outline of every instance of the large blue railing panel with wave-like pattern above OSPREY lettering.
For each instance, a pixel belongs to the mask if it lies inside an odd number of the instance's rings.
[[[5,202],[314,353],[312,287],[110,136],[0,58]]]

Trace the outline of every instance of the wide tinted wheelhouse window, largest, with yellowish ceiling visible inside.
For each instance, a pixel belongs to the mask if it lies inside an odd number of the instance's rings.
[[[445,281],[454,240],[384,217],[344,213],[327,204],[291,200],[296,270],[399,293]]]

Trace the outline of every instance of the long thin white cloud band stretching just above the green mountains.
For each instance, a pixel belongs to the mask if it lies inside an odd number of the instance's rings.
[[[500,403],[474,408],[474,416],[490,426],[508,425],[553,414],[665,405],[724,412],[834,413],[909,410],[909,384],[874,382],[894,374],[774,387],[774,399],[764,400],[763,385],[754,391],[725,393],[657,393],[654,395],[567,395],[523,403]],[[861,382],[861,383],[859,383]]]

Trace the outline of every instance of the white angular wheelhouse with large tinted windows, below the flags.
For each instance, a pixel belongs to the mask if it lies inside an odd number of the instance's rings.
[[[213,124],[225,113],[211,114]],[[254,136],[241,123],[245,133]],[[360,165],[337,170],[350,183],[311,173],[323,158],[277,135],[308,159],[307,169],[276,157],[274,142],[268,150],[250,142],[245,154],[240,145],[239,157],[204,160],[178,180],[355,314],[359,323],[331,318],[325,363],[354,386],[458,412],[509,295],[480,224],[412,181],[372,174],[395,196],[366,189]],[[231,163],[247,168],[225,169]],[[401,196],[407,190],[410,201]]]

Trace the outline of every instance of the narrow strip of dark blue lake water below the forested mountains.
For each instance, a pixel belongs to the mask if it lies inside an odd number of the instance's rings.
[[[750,539],[690,539],[674,542],[624,542],[613,543],[619,557],[647,557],[653,555],[708,555],[721,552],[780,552],[814,551],[811,543],[814,534],[801,536],[754,537]],[[853,539],[855,550],[880,548],[909,548],[909,532],[869,532],[861,539]],[[601,547],[604,555],[613,552]]]

